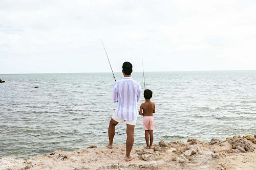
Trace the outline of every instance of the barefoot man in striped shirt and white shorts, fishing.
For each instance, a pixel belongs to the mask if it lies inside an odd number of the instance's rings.
[[[137,102],[139,102],[140,99],[141,88],[140,84],[131,77],[133,65],[126,61],[123,63],[122,68],[123,78],[117,81],[113,86],[113,102],[117,102],[118,104],[110,120],[110,142],[106,147],[113,149],[115,126],[118,123],[125,123],[127,134],[125,161],[130,161],[134,158],[131,155],[131,151],[134,142],[134,127],[138,115]]]

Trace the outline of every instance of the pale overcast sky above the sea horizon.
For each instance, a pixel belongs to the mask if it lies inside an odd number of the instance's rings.
[[[0,0],[0,74],[256,69],[256,1]]]

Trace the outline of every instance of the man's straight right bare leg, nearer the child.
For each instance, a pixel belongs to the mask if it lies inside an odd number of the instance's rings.
[[[134,142],[134,127],[135,125],[127,125],[127,129],[126,129],[126,134],[127,134],[127,140],[126,140],[126,156],[125,156],[125,161],[130,161],[132,160],[134,157],[131,155],[131,151],[133,148],[133,142]]]

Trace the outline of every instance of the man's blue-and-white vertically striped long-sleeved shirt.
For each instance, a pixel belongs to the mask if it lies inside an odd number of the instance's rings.
[[[140,84],[131,77],[123,77],[113,86],[113,102],[117,102],[116,115],[126,121],[137,118]]]

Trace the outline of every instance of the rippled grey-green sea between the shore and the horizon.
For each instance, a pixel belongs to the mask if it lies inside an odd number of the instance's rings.
[[[119,80],[121,73],[115,73]],[[144,90],[143,72],[132,77]],[[0,158],[108,144],[112,73],[0,75]],[[34,88],[38,86],[39,88]],[[145,72],[156,104],[154,142],[256,134],[256,71]],[[144,102],[143,93],[140,104]],[[125,144],[126,125],[114,144]],[[138,115],[134,146],[145,145]]]

